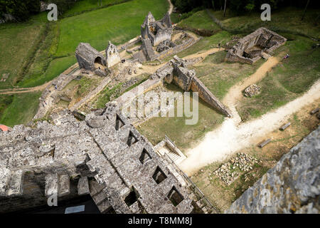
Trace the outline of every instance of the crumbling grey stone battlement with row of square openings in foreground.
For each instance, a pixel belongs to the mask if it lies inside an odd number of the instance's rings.
[[[79,182],[78,195],[86,192],[83,178],[96,180],[101,189],[90,187],[90,194],[101,212],[193,211],[184,187],[114,103],[89,113],[85,121],[68,110],[52,118],[55,125],[43,121],[36,128],[16,125],[0,133],[1,212],[26,207],[16,197],[67,196],[74,192],[70,177]],[[37,192],[25,196],[23,179],[30,173],[41,180],[33,182]]]

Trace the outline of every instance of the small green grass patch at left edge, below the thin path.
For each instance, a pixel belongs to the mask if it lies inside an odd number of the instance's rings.
[[[0,116],[0,123],[13,127],[30,122],[38,110],[40,96],[41,92],[14,95],[12,102]]]

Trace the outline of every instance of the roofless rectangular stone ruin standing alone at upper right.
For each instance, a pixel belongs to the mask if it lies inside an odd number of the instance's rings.
[[[260,58],[269,58],[272,52],[286,41],[286,38],[267,28],[258,28],[230,48],[225,59],[230,62],[252,64]]]

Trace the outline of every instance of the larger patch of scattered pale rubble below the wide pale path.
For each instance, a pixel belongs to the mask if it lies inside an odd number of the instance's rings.
[[[252,166],[257,162],[257,158],[240,152],[229,162],[221,165],[218,170],[215,170],[215,172],[213,172],[213,174],[217,175],[221,180],[223,180],[226,185],[230,185],[240,175],[239,172],[235,171],[237,167],[238,170],[242,172],[249,172],[250,170],[252,170]]]

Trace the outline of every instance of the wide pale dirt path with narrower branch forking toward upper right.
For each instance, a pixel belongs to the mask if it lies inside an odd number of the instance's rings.
[[[246,86],[261,80],[267,71],[277,64],[277,61],[279,59],[270,58],[250,78],[230,89],[223,102],[233,112],[234,118],[226,119],[220,128],[207,133],[196,147],[188,150],[188,158],[179,165],[183,171],[192,175],[203,166],[224,160],[228,155],[250,145],[257,145],[258,142],[265,139],[265,135],[279,129],[287,121],[289,115],[320,98],[320,80],[318,80],[301,97],[292,100],[277,110],[262,115],[259,119],[240,124],[240,116],[235,110],[235,105],[241,96],[241,91]]]

